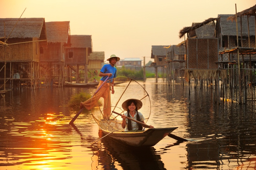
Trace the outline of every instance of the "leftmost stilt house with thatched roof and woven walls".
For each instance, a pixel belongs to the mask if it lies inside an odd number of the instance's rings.
[[[0,89],[38,86],[46,40],[44,18],[0,19]]]

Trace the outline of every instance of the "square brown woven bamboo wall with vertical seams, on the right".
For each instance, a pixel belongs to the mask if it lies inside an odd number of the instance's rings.
[[[189,69],[218,69],[218,39],[188,38]]]

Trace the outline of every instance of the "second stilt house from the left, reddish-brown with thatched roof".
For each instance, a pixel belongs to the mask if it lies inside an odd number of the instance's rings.
[[[66,48],[70,45],[69,21],[46,22],[47,48],[40,49],[40,77],[47,86],[62,87]]]

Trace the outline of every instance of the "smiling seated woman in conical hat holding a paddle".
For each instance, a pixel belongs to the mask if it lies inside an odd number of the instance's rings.
[[[129,118],[132,118],[134,120],[138,120],[142,123],[144,123],[144,116],[138,112],[138,110],[142,107],[142,102],[138,99],[128,99],[124,101],[122,104],[122,108],[127,111],[122,115],[123,122],[122,122],[122,128],[124,128],[124,131],[131,131],[131,130],[142,130],[142,125],[126,119],[126,116]],[[146,128],[146,127],[145,127]],[[149,128],[154,128],[153,126],[149,125]]]

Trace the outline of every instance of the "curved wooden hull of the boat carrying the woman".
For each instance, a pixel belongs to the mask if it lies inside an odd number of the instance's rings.
[[[148,128],[142,132],[112,132],[100,127],[109,138],[128,147],[154,146],[177,128]]]

